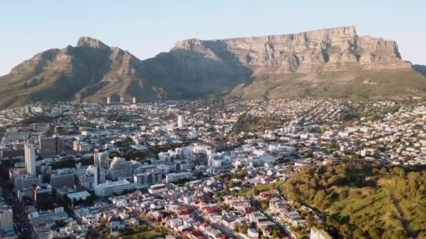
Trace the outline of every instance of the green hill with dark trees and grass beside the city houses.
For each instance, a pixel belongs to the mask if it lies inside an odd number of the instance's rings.
[[[327,229],[343,238],[426,236],[426,171],[348,163],[302,168],[284,194],[327,213]]]

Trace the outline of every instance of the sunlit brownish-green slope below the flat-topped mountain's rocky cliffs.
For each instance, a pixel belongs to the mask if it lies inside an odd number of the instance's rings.
[[[371,84],[364,83],[369,80]],[[324,96],[350,99],[403,99],[426,96],[426,78],[411,68],[261,76],[231,93],[244,99],[275,99],[286,96]]]

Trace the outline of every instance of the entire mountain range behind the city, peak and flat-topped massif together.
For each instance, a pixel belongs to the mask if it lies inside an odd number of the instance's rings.
[[[397,43],[358,36],[355,27],[188,39],[143,61],[82,37],[75,47],[46,50],[15,66],[0,77],[0,94],[0,108],[48,100],[105,102],[107,96],[402,99],[425,96],[426,77],[424,66],[401,59]]]

